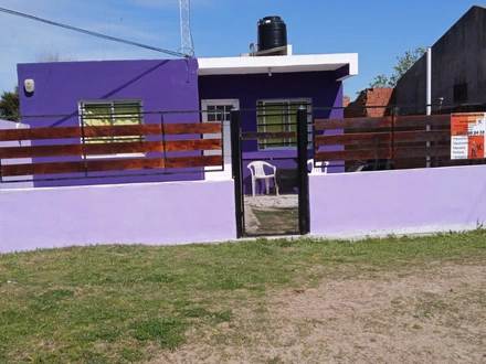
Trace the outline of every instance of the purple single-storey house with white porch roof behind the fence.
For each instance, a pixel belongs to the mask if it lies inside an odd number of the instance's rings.
[[[223,122],[223,172],[34,181],[34,185],[231,179],[232,108],[242,110],[243,131],[295,130],[294,115],[299,106],[313,113],[309,122],[313,118],[339,118],[342,81],[357,71],[356,53],[293,55],[289,45],[281,55],[19,64],[18,82],[25,85],[20,90],[22,122],[31,128],[80,126],[93,113],[124,113],[128,115],[124,124],[160,124],[160,111],[166,111],[165,122]],[[107,117],[97,122],[113,121]],[[296,157],[288,140],[249,140],[242,148],[244,160],[288,157],[292,163]],[[278,167],[278,161],[275,163]],[[247,184],[249,171],[243,170]],[[330,170],[340,171],[338,167]]]

